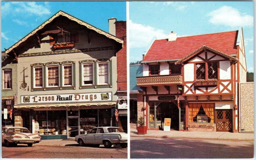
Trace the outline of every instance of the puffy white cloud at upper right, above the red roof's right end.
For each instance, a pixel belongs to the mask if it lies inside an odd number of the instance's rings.
[[[253,16],[241,13],[230,6],[222,6],[217,10],[211,11],[208,16],[211,17],[209,22],[215,25],[228,27],[253,26]]]

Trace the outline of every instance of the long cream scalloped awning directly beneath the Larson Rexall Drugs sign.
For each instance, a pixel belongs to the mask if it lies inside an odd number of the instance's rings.
[[[56,104],[20,104],[14,105],[14,108],[39,108],[39,107],[70,107],[70,106],[101,106],[116,105],[116,102],[87,102],[87,103],[56,103]],[[127,111],[126,111],[127,112]]]

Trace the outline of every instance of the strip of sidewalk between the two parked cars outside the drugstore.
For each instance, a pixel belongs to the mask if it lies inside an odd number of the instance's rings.
[[[75,139],[56,139],[56,140],[42,140],[33,146],[78,146]]]

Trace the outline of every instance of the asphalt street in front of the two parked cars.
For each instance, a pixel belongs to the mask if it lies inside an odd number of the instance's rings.
[[[3,158],[127,158],[127,148],[110,149],[69,146],[33,146],[18,144],[17,147],[2,146]]]

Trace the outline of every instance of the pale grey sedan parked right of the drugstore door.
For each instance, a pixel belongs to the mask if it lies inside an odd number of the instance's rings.
[[[110,148],[113,144],[119,144],[122,148],[127,147],[127,133],[119,127],[95,127],[88,134],[77,135],[75,141],[79,146],[91,144],[99,147]]]

